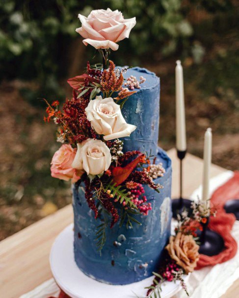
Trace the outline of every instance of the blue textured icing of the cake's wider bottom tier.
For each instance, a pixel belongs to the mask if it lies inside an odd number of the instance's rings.
[[[106,229],[106,244],[101,252],[96,249],[95,220],[84,197],[84,185],[73,190],[74,254],[80,270],[86,275],[110,284],[129,284],[152,275],[160,265],[163,249],[170,236],[171,222],[171,160],[159,148],[157,163],[162,162],[166,172],[155,180],[163,185],[160,193],[145,187],[145,195],[152,204],[147,216],[136,215],[141,226],[133,229],[117,223]]]

